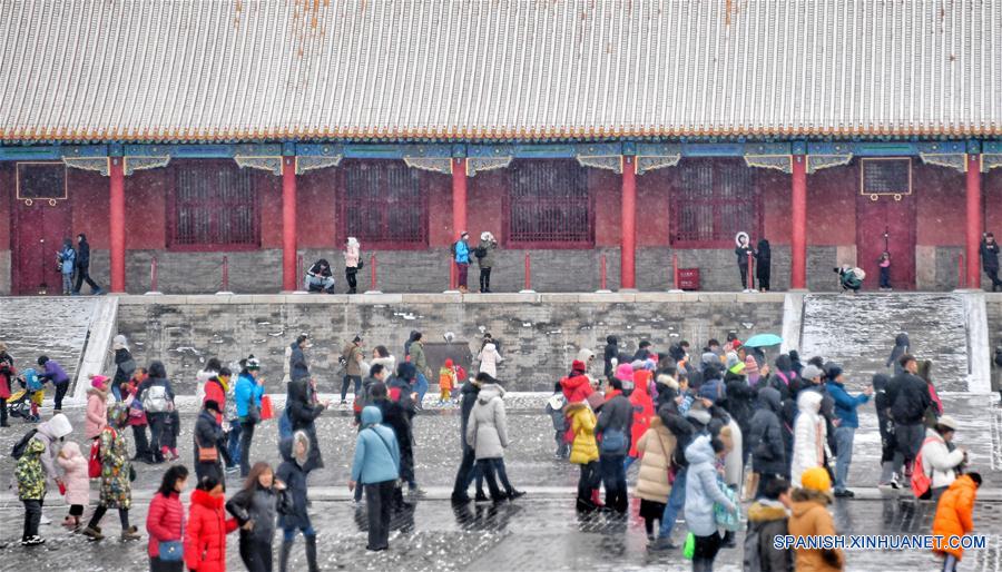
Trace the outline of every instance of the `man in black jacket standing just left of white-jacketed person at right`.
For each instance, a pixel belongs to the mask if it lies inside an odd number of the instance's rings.
[[[902,464],[905,473],[911,474],[911,464],[922,448],[925,437],[925,412],[932,404],[929,386],[916,372],[918,362],[915,356],[905,354],[898,361],[902,373],[887,384],[887,403],[891,404],[891,418],[894,421],[894,438],[897,450],[894,453],[894,469]]]

